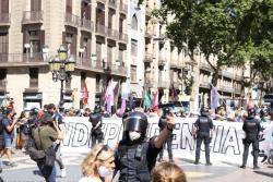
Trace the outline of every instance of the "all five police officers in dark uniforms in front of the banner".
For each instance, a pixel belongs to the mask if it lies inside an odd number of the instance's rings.
[[[92,146],[103,142],[102,132],[102,114],[99,106],[96,106],[94,112],[90,114],[90,121],[93,129],[91,132]],[[171,108],[164,108],[163,116],[158,121],[161,133],[158,136],[146,138],[147,117],[143,112],[128,111],[122,118],[123,136],[118,143],[115,155],[116,171],[119,171],[119,181],[130,182],[149,182],[151,181],[151,171],[156,163],[156,158],[159,155],[159,161],[163,157],[163,147],[167,144],[169,161],[173,162],[173,130],[175,128],[175,117]],[[209,109],[201,108],[201,114],[194,123],[192,132],[193,138],[197,139],[195,161],[200,163],[201,144],[205,145],[206,166],[211,166],[210,160],[210,143],[213,134],[213,122],[209,117]],[[249,145],[252,144],[253,167],[258,168],[258,135],[261,131],[260,122],[254,119],[254,110],[248,110],[248,118],[244,123],[242,130],[246,132],[244,139],[244,159],[241,168],[246,168]]]

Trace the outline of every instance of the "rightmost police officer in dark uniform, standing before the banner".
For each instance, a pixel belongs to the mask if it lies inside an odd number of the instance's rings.
[[[242,165],[240,168],[245,169],[248,160],[249,145],[252,144],[253,148],[253,168],[258,167],[258,153],[259,153],[259,133],[262,130],[260,121],[254,119],[256,109],[248,109],[248,118],[242,124],[242,130],[246,133],[246,138],[242,139],[244,143],[244,154],[242,154]]]

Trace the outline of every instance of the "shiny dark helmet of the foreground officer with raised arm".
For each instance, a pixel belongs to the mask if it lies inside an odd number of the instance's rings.
[[[124,132],[136,131],[146,135],[147,117],[143,112],[133,111],[124,119]]]

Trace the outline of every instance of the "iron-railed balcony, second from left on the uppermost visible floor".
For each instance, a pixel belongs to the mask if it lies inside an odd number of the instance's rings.
[[[44,12],[43,11],[24,11],[22,24],[43,23]]]

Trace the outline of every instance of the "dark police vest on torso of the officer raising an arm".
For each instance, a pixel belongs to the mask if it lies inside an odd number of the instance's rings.
[[[120,171],[119,181],[121,182],[150,182],[150,167],[147,163],[149,142],[128,146],[119,143],[117,151],[118,166]]]

